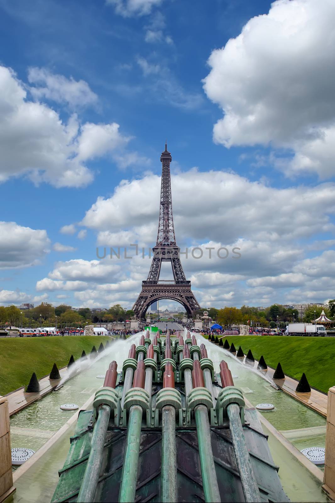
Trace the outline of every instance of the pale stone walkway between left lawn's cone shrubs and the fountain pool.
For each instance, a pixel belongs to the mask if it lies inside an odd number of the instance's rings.
[[[64,375],[66,374],[66,369],[67,368],[64,367],[59,370],[61,378],[64,377]],[[8,400],[10,416],[16,414],[16,412],[19,412],[19,410],[24,409],[31,403],[36,402],[36,400],[39,400],[40,398],[48,394],[56,386],[58,386],[59,382],[60,380],[50,381],[49,376],[46,376],[39,380],[40,383],[39,393],[25,393],[25,388],[22,387],[6,395],[6,398]]]

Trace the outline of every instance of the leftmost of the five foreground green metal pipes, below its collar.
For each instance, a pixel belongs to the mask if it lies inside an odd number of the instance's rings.
[[[77,497],[77,501],[80,501],[80,503],[94,501],[103,462],[103,451],[110,413],[111,408],[109,405],[101,405],[99,407],[99,415],[91,439],[90,456]]]

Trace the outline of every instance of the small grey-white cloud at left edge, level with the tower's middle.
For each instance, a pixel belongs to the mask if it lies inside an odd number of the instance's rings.
[[[16,222],[0,222],[0,269],[34,266],[49,251],[46,230],[22,227]]]

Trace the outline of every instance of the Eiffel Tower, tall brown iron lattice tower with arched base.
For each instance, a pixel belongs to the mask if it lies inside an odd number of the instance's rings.
[[[143,319],[148,307],[160,299],[170,299],[180,302],[191,318],[195,311],[200,309],[197,299],[191,290],[191,281],[186,276],[180,261],[180,248],[177,246],[174,219],[172,215],[170,162],[171,153],[165,150],[161,153],[161,186],[159,222],[156,246],[152,248],[153,258],[146,281],[142,281],[142,290],[139,294],[133,311],[137,319]],[[159,273],[162,262],[170,262],[174,280],[160,281]]]

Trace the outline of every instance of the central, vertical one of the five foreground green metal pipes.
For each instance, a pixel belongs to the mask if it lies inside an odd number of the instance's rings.
[[[176,410],[165,405],[161,411],[160,498],[163,503],[177,501]]]

